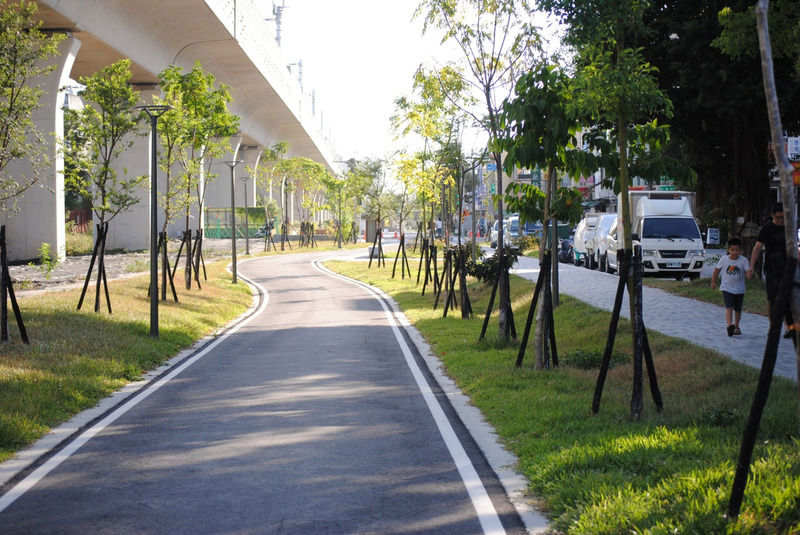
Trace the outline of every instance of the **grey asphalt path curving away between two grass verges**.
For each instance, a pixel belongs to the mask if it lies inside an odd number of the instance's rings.
[[[524,533],[402,314],[318,256],[240,262],[255,310],[5,484],[0,533]]]

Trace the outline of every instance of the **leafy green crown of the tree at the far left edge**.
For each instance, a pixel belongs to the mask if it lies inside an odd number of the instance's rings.
[[[35,2],[0,0],[0,223],[49,164],[44,133],[32,120],[42,91],[31,82],[55,69],[48,60],[58,55],[64,36],[44,34],[32,21],[36,9]],[[11,176],[8,165],[22,159],[30,173]]]

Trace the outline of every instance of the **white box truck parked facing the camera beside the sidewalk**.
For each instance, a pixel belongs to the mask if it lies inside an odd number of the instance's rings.
[[[628,195],[631,232],[642,246],[645,275],[698,278],[705,250],[694,218],[694,192],[631,191]],[[621,241],[621,232],[619,238]]]

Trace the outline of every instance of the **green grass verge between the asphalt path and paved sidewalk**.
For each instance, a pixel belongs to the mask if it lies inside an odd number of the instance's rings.
[[[519,459],[531,500],[556,533],[797,533],[800,530],[798,393],[776,378],[753,456],[742,513],[724,518],[739,445],[758,371],[714,351],[650,332],[665,410],[658,414],[645,385],[641,421],[630,417],[632,371],[628,322],[615,351],[623,362],[606,381],[599,414],[591,412],[610,314],[569,296],[555,311],[559,356],[566,363],[534,369],[528,349],[491,335],[477,341],[489,289],[471,284],[477,317],[442,317],[434,296],[420,295],[416,277],[391,279],[391,265],[329,262],[332,269],[389,293],[430,342],[447,373]],[[412,271],[416,274],[416,266]],[[708,284],[708,281],[706,281]],[[522,329],[532,283],[512,278],[513,306]],[[577,356],[576,356],[577,355]]]

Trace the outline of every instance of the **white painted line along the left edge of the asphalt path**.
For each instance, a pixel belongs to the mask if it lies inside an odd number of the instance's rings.
[[[89,442],[89,440],[91,440],[95,435],[97,435],[98,433],[103,431],[106,427],[114,423],[122,415],[124,415],[126,412],[128,412],[136,405],[138,405],[139,402],[146,399],[147,397],[150,396],[150,394],[152,394],[153,392],[155,392],[156,390],[167,384],[169,381],[177,377],[189,366],[191,366],[192,364],[203,358],[212,349],[214,349],[223,341],[225,341],[230,335],[234,334],[236,331],[238,331],[239,329],[250,323],[259,314],[261,314],[267,307],[267,303],[269,303],[269,293],[267,293],[267,291],[261,285],[248,279],[247,277],[242,277],[241,275],[239,275],[239,277],[244,279],[248,284],[255,286],[258,289],[258,291],[261,292],[261,295],[264,296],[261,305],[252,314],[250,314],[250,316],[246,317],[241,322],[231,327],[230,330],[220,335],[216,340],[208,344],[199,353],[185,360],[180,366],[175,368],[169,374],[165,375],[164,377],[156,381],[149,389],[135,396],[133,399],[126,401],[125,403],[120,405],[116,410],[114,410],[114,412],[112,412],[99,422],[97,422],[91,428],[81,433],[75,440],[70,442],[61,451],[59,451],[53,457],[48,459],[47,462],[45,462],[42,466],[31,472],[27,477],[25,477],[22,481],[17,483],[3,496],[0,496],[0,513],[2,513],[9,505],[14,503],[17,499],[19,499],[23,494],[29,491],[34,485],[36,485],[36,483],[38,483],[45,476],[47,476],[47,474],[52,472],[56,467],[58,467],[58,465],[66,461],[73,453],[78,451],[78,449],[80,449],[81,446]]]

